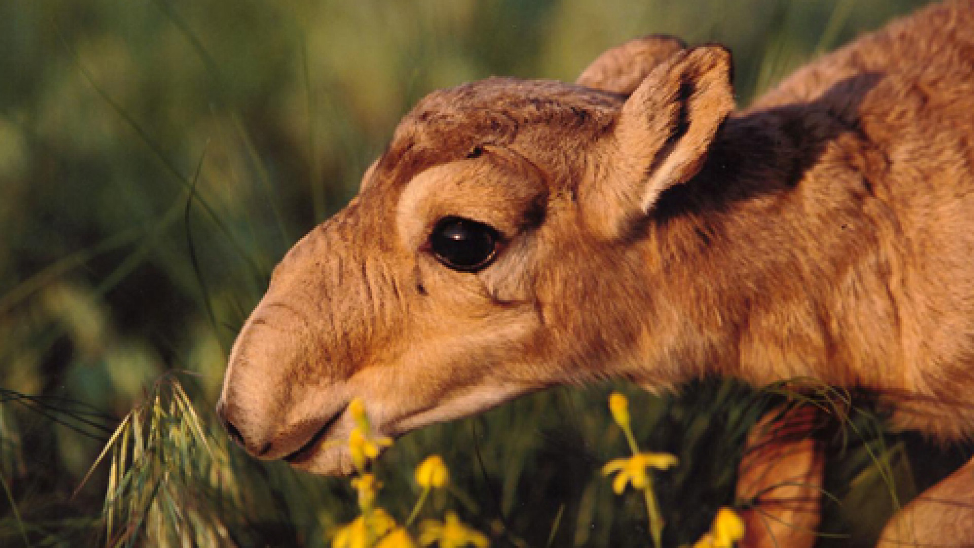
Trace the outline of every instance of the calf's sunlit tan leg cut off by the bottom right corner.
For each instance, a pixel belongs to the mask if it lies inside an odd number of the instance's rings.
[[[893,516],[880,548],[974,546],[974,459]]]

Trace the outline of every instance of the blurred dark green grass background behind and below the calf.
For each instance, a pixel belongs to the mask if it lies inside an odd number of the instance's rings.
[[[344,482],[251,461],[226,446],[210,410],[271,268],[354,195],[396,121],[432,89],[491,75],[571,81],[606,48],[665,32],[729,45],[746,104],[922,3],[0,3],[0,544],[119,540],[102,518],[108,466],[75,490],[134,406],[170,397],[157,379],[174,371],[191,373],[175,378],[211,447],[184,440],[147,472],[183,478],[168,507],[152,505],[151,483],[126,491],[143,505],[131,515],[156,508],[156,525],[129,524],[141,532],[124,540],[320,546],[354,515]],[[408,471],[439,451],[459,508],[499,545],[644,544],[640,499],[614,500],[598,478],[624,447],[608,390],[554,390],[407,437],[380,465],[386,503],[407,510]],[[731,502],[735,451],[765,398],[731,383],[679,398],[629,392],[647,447],[685,463],[660,498],[669,542],[691,541]],[[184,514],[167,518],[175,507]]]

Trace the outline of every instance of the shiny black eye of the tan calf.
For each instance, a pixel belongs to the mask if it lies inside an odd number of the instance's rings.
[[[497,230],[482,222],[447,216],[433,228],[430,249],[446,266],[462,272],[475,272],[494,259],[500,240]]]

